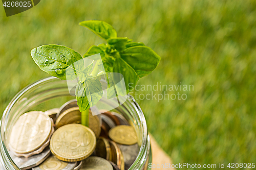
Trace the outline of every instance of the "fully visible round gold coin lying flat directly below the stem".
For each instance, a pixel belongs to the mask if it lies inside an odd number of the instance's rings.
[[[94,132],[80,124],[57,129],[50,141],[50,150],[59,160],[75,162],[89,157],[96,147]]]

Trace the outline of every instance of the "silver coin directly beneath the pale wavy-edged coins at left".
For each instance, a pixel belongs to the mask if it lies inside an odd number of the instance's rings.
[[[9,152],[10,156],[12,157],[12,160],[14,163],[22,170],[29,169],[31,167],[35,167],[45,161],[50,155],[51,151],[50,148],[47,147],[42,151],[40,154],[32,155],[28,158],[25,157],[17,157],[13,154],[13,152]]]

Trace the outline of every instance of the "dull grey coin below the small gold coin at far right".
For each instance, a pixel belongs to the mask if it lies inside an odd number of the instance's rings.
[[[125,162],[124,168],[129,169],[138,156],[139,146],[138,144],[133,144],[133,145],[117,144],[117,145],[123,154],[123,160]]]

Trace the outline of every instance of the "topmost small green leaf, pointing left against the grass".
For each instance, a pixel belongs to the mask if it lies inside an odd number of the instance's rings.
[[[116,30],[108,23],[100,20],[86,20],[79,23],[80,26],[86,27],[100,38],[107,40],[116,37]]]

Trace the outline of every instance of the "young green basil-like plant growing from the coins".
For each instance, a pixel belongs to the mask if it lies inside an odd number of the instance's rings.
[[[117,37],[116,30],[108,23],[100,20],[87,20],[79,23],[106,41],[93,45],[81,56],[71,48],[62,45],[42,45],[31,51],[31,56],[41,70],[61,80],[75,80],[76,100],[81,111],[81,123],[88,126],[89,108],[102,98],[100,83],[101,71],[105,71],[108,98],[124,96],[135,87],[138,80],[150,74],[160,62],[160,57],[141,42],[133,42],[127,37]],[[102,64],[93,61],[84,67],[83,58],[100,54]],[[93,64],[96,66],[93,67]],[[104,70],[101,70],[101,69]],[[119,90],[115,84],[120,78],[111,73],[122,75],[125,90]],[[130,86],[128,85],[130,83]],[[132,84],[132,86],[131,86]],[[114,90],[113,90],[114,89]]]

